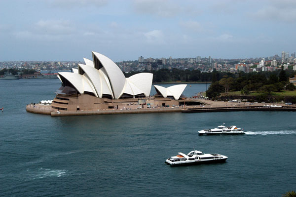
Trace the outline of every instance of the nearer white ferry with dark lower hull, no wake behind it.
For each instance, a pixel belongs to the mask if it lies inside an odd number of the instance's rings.
[[[179,155],[166,159],[165,163],[171,166],[177,165],[193,165],[200,163],[221,163],[225,162],[228,157],[220,154],[204,154],[200,151],[191,151],[187,155],[178,153]]]

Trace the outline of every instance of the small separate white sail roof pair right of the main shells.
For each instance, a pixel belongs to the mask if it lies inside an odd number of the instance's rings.
[[[155,89],[157,89],[164,98],[167,96],[173,96],[176,100],[180,98],[186,86],[187,84],[180,84],[165,88],[159,85],[154,85]]]

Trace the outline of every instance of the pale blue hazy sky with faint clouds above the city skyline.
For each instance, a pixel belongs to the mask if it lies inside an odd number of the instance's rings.
[[[296,51],[296,0],[0,0],[0,61]]]

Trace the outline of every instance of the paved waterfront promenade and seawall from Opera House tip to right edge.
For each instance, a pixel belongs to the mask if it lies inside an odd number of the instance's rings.
[[[190,99],[202,103],[202,105],[192,105],[185,107],[165,107],[151,109],[131,109],[131,110],[87,110],[87,111],[51,111],[51,105],[32,104],[26,106],[26,111],[35,114],[58,116],[84,116],[84,115],[111,115],[111,114],[147,114],[147,113],[202,113],[202,112],[235,112],[235,111],[293,111],[296,112],[296,105],[283,105],[280,103],[232,103],[211,101],[205,99]],[[269,107],[266,107],[269,105]],[[281,107],[271,107],[277,105]]]

